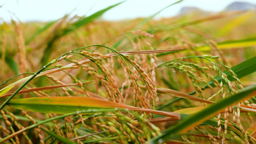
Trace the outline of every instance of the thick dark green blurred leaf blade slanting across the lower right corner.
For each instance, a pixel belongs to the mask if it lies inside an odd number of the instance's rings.
[[[165,131],[164,134],[150,140],[150,143],[159,143],[159,141],[170,140],[172,136],[179,134],[181,132],[188,131],[193,126],[197,125],[198,123],[204,122],[205,119],[207,119],[209,116],[211,116],[214,113],[217,113],[218,111],[224,109],[225,107],[228,107],[229,105],[232,105],[236,102],[242,101],[243,99],[246,99],[246,98],[249,98],[250,96],[255,95],[256,94],[255,91],[256,91],[256,85],[247,87],[243,91],[235,95],[232,95],[226,99],[223,99],[222,101],[216,104],[213,104],[208,108],[205,108],[204,110],[200,111],[199,113],[193,116],[189,116],[183,122],[180,122],[177,125],[173,126],[171,129],[168,129],[167,131]]]

